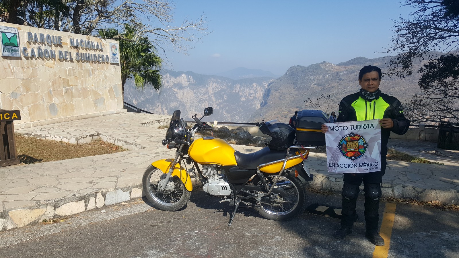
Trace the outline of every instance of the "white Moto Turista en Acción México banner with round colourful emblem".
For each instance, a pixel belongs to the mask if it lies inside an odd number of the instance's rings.
[[[381,170],[379,119],[325,123],[328,172],[368,173]]]

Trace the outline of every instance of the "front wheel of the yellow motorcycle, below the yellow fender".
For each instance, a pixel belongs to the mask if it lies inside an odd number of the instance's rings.
[[[154,208],[162,211],[176,211],[183,208],[190,200],[191,192],[186,190],[179,177],[169,179],[164,191],[157,191],[158,183],[165,178],[161,169],[150,165],[146,168],[142,179],[143,191]]]

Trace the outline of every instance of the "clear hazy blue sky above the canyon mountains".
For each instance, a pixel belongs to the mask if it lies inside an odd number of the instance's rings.
[[[294,65],[385,56],[400,0],[174,0],[174,17],[204,13],[213,33],[188,55],[167,52],[164,68],[221,73],[236,67],[282,75]]]

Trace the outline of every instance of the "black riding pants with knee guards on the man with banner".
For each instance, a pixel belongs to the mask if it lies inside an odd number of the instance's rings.
[[[381,160],[381,171],[369,173],[344,174],[342,189],[341,225],[351,227],[357,219],[355,207],[360,192],[359,186],[364,183],[365,222],[367,230],[377,230],[379,222],[379,202],[381,199],[382,176],[386,172],[386,159]]]

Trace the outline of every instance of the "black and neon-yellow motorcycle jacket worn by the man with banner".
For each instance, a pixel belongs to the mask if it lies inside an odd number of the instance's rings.
[[[339,116],[336,122],[364,121],[391,118],[391,129],[381,128],[381,156],[386,156],[387,141],[391,131],[403,135],[408,131],[409,120],[403,115],[403,107],[396,97],[381,93],[374,100],[364,99],[358,92],[347,95],[340,102]]]

